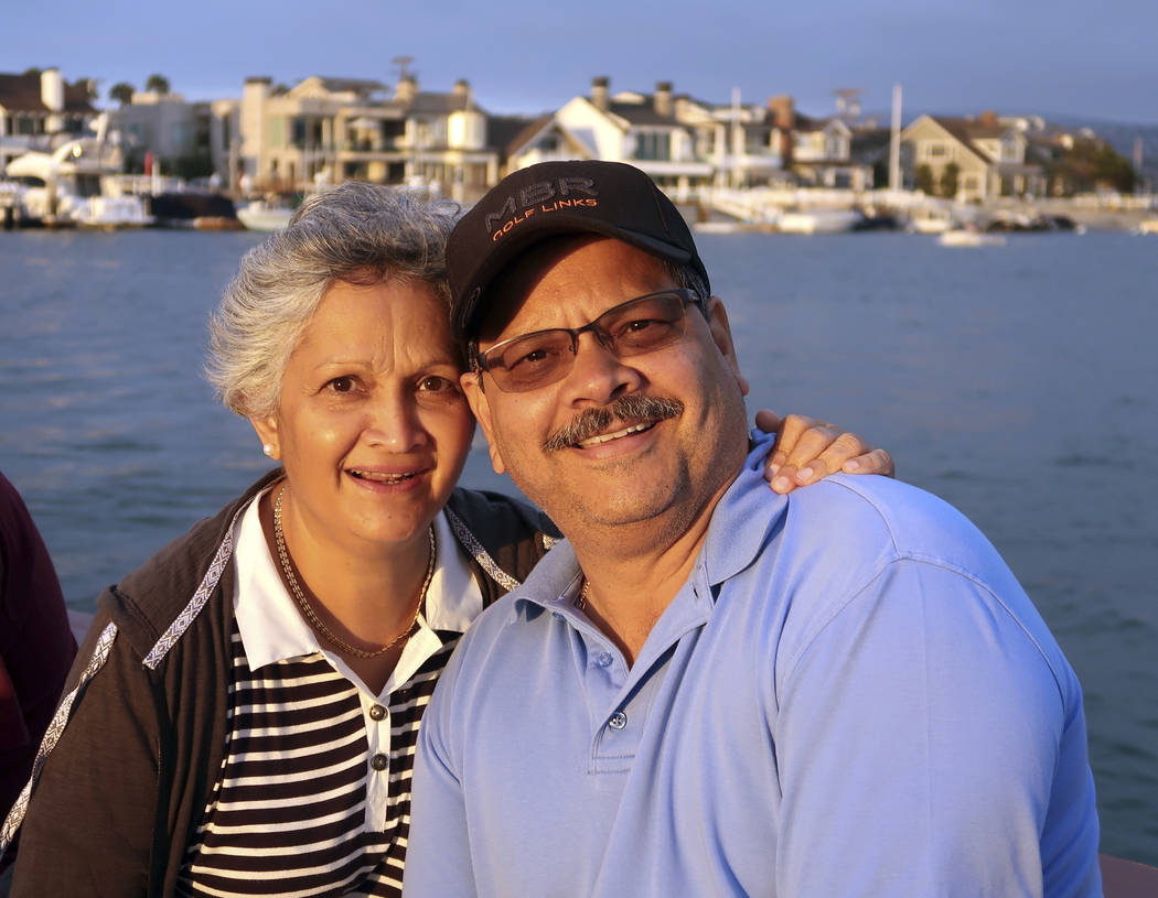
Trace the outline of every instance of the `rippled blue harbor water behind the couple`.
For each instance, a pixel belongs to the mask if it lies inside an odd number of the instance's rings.
[[[258,240],[0,234],[0,470],[72,608],[266,469],[200,375],[208,311]],[[1158,238],[698,242],[749,408],[887,447],[1003,553],[1083,683],[1102,851],[1158,864]],[[481,437],[464,480],[503,484]]]

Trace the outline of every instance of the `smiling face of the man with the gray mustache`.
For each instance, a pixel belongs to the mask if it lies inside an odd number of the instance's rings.
[[[611,307],[676,286],[658,259],[620,241],[538,244],[491,288],[501,300],[479,352],[533,331],[582,327]],[[679,535],[739,470],[743,387],[724,308],[712,299],[706,318],[695,306],[686,315],[681,337],[626,358],[585,332],[566,375],[525,392],[504,392],[490,374],[464,376],[494,470],[510,472],[570,537],[639,522]],[[584,426],[593,410],[624,397],[664,402]],[[578,437],[566,439],[569,430]]]

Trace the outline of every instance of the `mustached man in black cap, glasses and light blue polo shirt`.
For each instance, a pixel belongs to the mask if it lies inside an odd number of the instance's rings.
[[[559,525],[427,709],[408,896],[1100,893],[1072,670],[931,495],[745,457],[724,306],[616,163],[455,229],[463,385]]]

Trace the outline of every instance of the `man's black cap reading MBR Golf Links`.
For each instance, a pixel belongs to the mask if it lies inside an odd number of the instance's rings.
[[[710,289],[687,222],[643,171],[622,162],[540,162],[500,181],[450,233],[450,317],[460,338],[476,334],[488,286],[521,252],[545,237],[581,233],[688,265]]]

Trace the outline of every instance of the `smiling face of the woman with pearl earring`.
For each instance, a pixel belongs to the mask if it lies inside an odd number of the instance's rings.
[[[445,306],[422,282],[339,281],[250,419],[286,469],[295,523],[339,553],[423,536],[454,488],[474,418]]]

